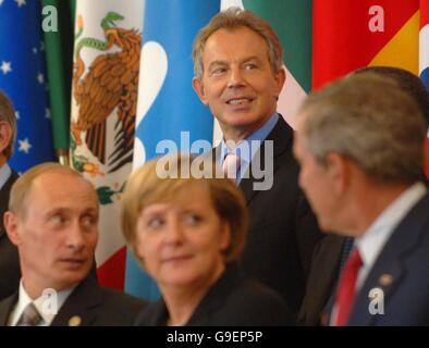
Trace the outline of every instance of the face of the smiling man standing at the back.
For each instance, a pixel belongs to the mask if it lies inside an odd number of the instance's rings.
[[[225,139],[245,138],[275,111],[285,73],[272,71],[268,46],[254,30],[214,32],[206,41],[203,66],[194,89],[218,119]]]

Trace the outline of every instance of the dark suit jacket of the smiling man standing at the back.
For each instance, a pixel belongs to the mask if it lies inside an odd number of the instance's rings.
[[[254,190],[249,177],[240,187],[246,197],[250,226],[241,269],[267,284],[297,313],[305,294],[315,246],[322,238],[317,221],[297,184],[298,163],[292,154],[293,129],[279,117],[266,140],[273,140],[273,185]],[[216,149],[220,156],[220,147]],[[265,165],[265,144],[260,148]]]

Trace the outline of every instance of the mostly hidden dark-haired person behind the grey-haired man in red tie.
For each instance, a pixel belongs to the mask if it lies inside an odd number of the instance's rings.
[[[380,76],[394,79],[401,89],[409,94],[422,112],[426,126],[429,127],[429,94],[421,79],[413,73],[393,66],[368,66],[353,74],[377,73]],[[422,181],[428,184],[422,173]],[[305,325],[320,325],[321,314],[329,302],[333,300],[340,269],[344,264],[353,238],[328,235],[316,248],[307,282],[307,291],[303,300],[298,320]]]

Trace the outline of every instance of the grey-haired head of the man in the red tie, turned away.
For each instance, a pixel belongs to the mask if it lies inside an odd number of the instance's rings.
[[[299,111],[294,153],[320,226],[347,231],[356,197],[369,195],[363,187],[420,179],[425,138],[419,108],[392,79],[353,75],[310,95]]]

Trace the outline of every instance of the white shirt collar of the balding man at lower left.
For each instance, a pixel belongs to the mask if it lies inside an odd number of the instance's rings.
[[[76,286],[64,289],[61,291],[57,291],[57,313],[60,311],[61,307],[64,304],[65,300],[70,296],[70,294],[74,290]],[[32,300],[32,298],[28,296],[27,291],[24,288],[23,281],[21,279],[20,282],[20,290],[19,290],[19,300],[15,306],[15,309],[11,315],[11,326],[15,326],[19,319],[21,318],[22,313],[24,312],[25,308],[33,302],[34,306],[37,308],[38,312],[40,313],[40,316],[42,318],[42,322],[40,323],[40,326],[49,326],[53,319],[56,318],[57,313],[53,313],[52,311],[45,311],[44,310],[44,303],[46,301],[47,297],[40,296],[35,300]],[[49,297],[49,299],[54,299],[52,297]],[[53,310],[53,308],[49,307],[49,310]]]

